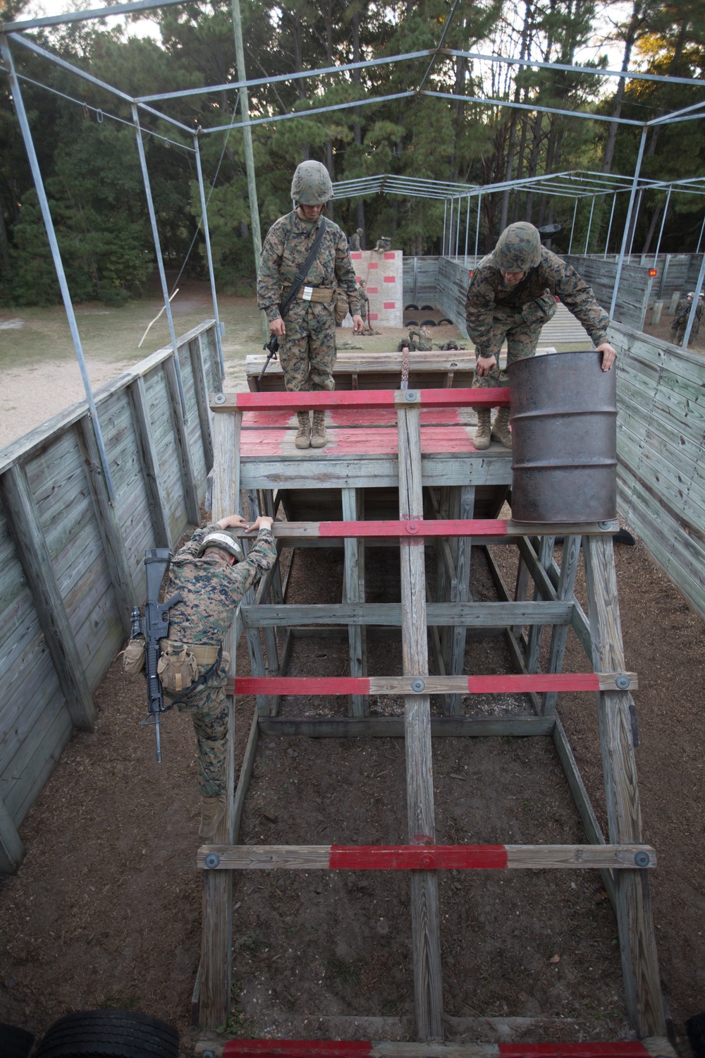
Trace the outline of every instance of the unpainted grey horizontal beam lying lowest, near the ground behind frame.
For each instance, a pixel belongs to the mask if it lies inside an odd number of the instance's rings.
[[[521,738],[550,735],[551,716],[432,716],[431,736],[484,738],[491,735]],[[307,738],[403,738],[403,716],[289,717],[261,716],[262,734]]]

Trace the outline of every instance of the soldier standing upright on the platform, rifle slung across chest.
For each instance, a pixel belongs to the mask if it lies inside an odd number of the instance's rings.
[[[286,321],[280,305],[296,273],[303,267],[321,224],[321,212],[333,197],[328,169],[320,162],[302,162],[292,181],[295,208],[280,217],[267,232],[257,276],[257,304],[266,312],[270,330],[279,339],[279,361],[286,389],[296,393],[330,390],[335,386],[335,290],[348,297],[353,330],[363,331],[357,280],[344,232],[331,220],[304,285],[290,303]],[[304,293],[312,290],[309,298]],[[322,448],[328,438],[324,412],[314,412],[313,431],[309,413],[297,412],[299,431],[295,444]]]

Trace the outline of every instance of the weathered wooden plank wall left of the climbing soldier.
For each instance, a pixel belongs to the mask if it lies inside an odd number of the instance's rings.
[[[0,452],[0,872],[17,833],[144,601],[144,554],[200,524],[212,466],[208,394],[220,389],[215,324],[95,394],[112,476],[109,501],[88,404]]]

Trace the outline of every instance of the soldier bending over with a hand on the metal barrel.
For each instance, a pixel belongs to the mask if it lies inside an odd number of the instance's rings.
[[[495,250],[475,269],[467,288],[465,318],[478,358],[474,388],[508,384],[508,375],[499,368],[504,341],[507,367],[533,357],[541,328],[555,315],[556,297],[602,352],[602,370],[610,369],[616,352],[607,338],[609,315],[575,269],[541,245],[533,224],[520,221],[504,230]],[[490,434],[512,448],[508,423],[508,408],[500,408],[491,430],[490,409],[479,409],[476,448],[488,448]]]

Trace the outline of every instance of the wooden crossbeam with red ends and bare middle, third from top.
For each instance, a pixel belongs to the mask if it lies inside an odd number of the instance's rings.
[[[625,683],[625,678],[628,680]],[[237,676],[228,694],[540,694],[637,690],[633,672],[559,672],[488,676]]]

